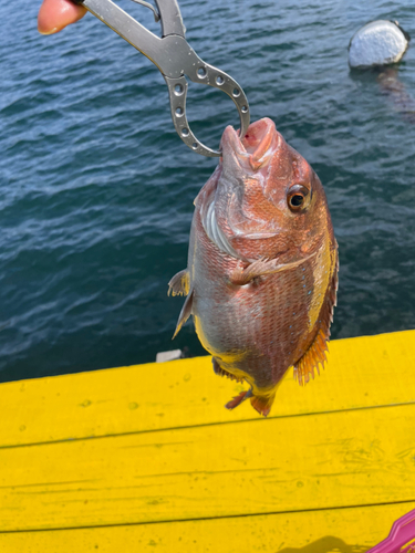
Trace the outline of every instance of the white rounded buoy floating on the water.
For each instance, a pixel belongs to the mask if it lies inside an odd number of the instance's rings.
[[[371,67],[396,63],[406,52],[409,40],[397,21],[372,21],[359,29],[350,41],[349,65]]]

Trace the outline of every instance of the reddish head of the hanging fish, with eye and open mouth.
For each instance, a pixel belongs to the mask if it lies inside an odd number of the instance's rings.
[[[228,126],[219,166],[199,198],[203,222],[221,250],[241,260],[307,257],[331,227],[319,177],[269,118],[242,139]],[[329,219],[329,220],[328,220]]]

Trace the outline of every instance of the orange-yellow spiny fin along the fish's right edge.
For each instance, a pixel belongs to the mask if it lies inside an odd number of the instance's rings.
[[[326,361],[325,352],[329,351],[328,344],[330,341],[330,325],[333,321],[333,311],[336,304],[338,295],[338,273],[339,273],[339,255],[336,254],[334,273],[325,294],[325,300],[320,312],[320,328],[304,355],[294,364],[294,378],[300,386],[303,386],[310,380],[310,376],[314,378],[314,371],[320,374],[319,364],[324,368]]]

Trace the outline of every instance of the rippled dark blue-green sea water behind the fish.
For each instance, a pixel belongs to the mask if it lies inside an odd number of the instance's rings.
[[[243,87],[320,176],[340,246],[332,337],[415,327],[415,125],[347,44],[373,19],[415,40],[415,6],[360,0],[180,0],[187,39]],[[176,135],[157,69],[87,14],[53,36],[40,1],[1,2],[0,382],[152,362],[183,299],[193,200],[216,160]],[[158,32],[149,10],[120,6]],[[397,71],[415,96],[415,48]],[[397,93],[400,96],[400,93]],[[397,98],[398,100],[398,98]],[[231,101],[193,85],[196,135],[217,147]]]

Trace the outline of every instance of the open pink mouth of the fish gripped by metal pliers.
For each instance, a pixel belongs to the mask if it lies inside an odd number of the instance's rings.
[[[267,165],[281,139],[276,124],[268,117],[249,125],[247,134],[240,139],[232,126],[226,127],[222,139],[222,163],[255,171]]]

